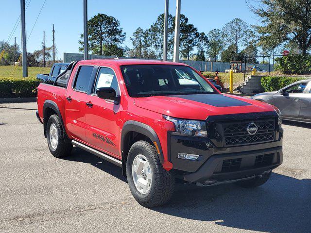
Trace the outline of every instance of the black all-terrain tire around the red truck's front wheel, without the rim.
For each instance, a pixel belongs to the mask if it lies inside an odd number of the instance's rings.
[[[152,172],[152,183],[149,192],[146,194],[138,191],[133,180],[133,161],[139,154],[148,160]],[[155,147],[150,143],[138,141],[132,145],[127,156],[126,174],[132,195],[140,205],[150,208],[163,205],[171,199],[175,187],[175,178],[171,172],[163,168]]]

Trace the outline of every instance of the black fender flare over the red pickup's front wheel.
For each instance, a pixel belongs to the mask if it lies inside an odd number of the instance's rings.
[[[163,157],[163,151],[162,151],[162,147],[161,147],[161,143],[160,140],[157,136],[157,134],[155,133],[154,129],[151,128],[149,125],[146,125],[144,123],[141,123],[139,121],[135,121],[135,120],[128,120],[124,123],[123,127],[122,127],[122,132],[121,132],[121,153],[122,153],[122,164],[126,164],[126,161],[123,161],[124,155],[123,155],[123,149],[124,149],[124,139],[125,136],[128,132],[138,132],[141,134],[146,135],[147,137],[149,137],[151,139],[152,142],[155,142],[157,144],[157,147],[159,149],[159,160],[161,162],[161,164],[164,163],[164,157]]]

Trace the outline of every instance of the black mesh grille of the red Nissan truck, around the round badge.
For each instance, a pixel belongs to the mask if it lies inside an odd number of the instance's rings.
[[[247,132],[249,123],[255,123],[258,127],[257,133],[250,135]],[[238,146],[274,141],[275,119],[254,120],[223,123],[223,140],[225,146]]]

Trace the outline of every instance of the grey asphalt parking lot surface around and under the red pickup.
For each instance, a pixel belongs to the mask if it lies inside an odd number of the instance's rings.
[[[0,232],[311,232],[311,125],[283,122],[284,161],[256,189],[178,185],[147,209],[121,168],[74,148],[54,158],[35,103],[0,104]]]

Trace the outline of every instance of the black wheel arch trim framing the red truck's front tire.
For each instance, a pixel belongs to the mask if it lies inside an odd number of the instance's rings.
[[[121,132],[121,155],[122,155],[122,173],[123,176],[126,176],[126,159],[128,151],[130,150],[132,144],[131,142],[135,140],[132,140],[133,133],[138,134],[138,136],[145,136],[150,141],[149,143],[152,143],[152,145],[155,146],[156,150],[158,151],[159,160],[160,163],[164,163],[164,156],[163,156],[163,150],[160,144],[160,140],[155,133],[155,131],[149,126],[144,123],[141,123],[139,121],[129,120],[126,121],[122,127]]]

